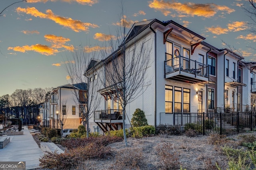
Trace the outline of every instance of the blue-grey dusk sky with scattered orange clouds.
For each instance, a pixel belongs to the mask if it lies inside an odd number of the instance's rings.
[[[0,12],[19,0],[1,0]],[[202,35],[219,49],[222,40],[256,62],[256,35],[240,4],[248,0],[123,0],[129,28],[134,22],[173,20]],[[27,0],[0,16],[0,96],[16,89],[57,87],[70,83],[64,64],[82,44],[98,50],[116,37],[120,0]],[[130,24],[130,25],[129,25]],[[255,25],[254,25],[255,27]],[[250,47],[248,47],[250,46]]]

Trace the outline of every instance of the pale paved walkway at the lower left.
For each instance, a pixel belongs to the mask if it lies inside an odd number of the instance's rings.
[[[0,162],[25,161],[26,170],[40,168],[39,158],[44,153],[38,147],[26,126],[24,126],[22,131],[24,135],[7,136],[10,137],[10,143],[3,149],[0,149]]]

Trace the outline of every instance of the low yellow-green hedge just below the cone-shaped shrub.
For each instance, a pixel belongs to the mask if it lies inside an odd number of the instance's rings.
[[[131,128],[132,137],[142,138],[156,133],[156,128],[152,125]]]

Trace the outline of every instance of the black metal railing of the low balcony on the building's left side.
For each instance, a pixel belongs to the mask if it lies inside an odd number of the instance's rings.
[[[122,120],[122,110],[108,109],[94,111],[94,120]]]

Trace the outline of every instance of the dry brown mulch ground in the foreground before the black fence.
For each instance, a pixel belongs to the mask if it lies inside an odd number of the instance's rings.
[[[249,135],[256,135],[256,133],[248,133]],[[246,134],[240,134],[246,135]],[[40,141],[34,138],[35,141],[40,145]],[[210,136],[197,136],[187,137],[181,136],[168,136],[163,138],[159,135],[153,137],[144,137],[142,139],[128,138],[128,147],[125,148],[124,142],[118,142],[108,145],[111,148],[112,154],[107,158],[100,160],[85,160],[84,165],[81,165],[80,169],[86,170],[107,170],[116,169],[117,158],[120,158],[120,154],[128,151],[134,153],[140,152],[140,165],[134,169],[142,170],[156,170],[162,169],[161,160],[157,147],[162,146],[164,143],[171,146],[172,153],[178,155],[178,167],[182,166],[183,169],[187,170],[214,170],[216,169],[215,163],[226,170],[227,157],[222,154],[222,145],[212,145],[214,140]],[[234,148],[241,148],[239,146],[239,135],[233,135],[228,137],[228,142],[225,145],[232,146]],[[125,149],[124,149],[125,148]],[[62,148],[64,149],[64,148]],[[126,154],[127,156],[127,154]],[[120,168],[118,168],[120,169]]]

